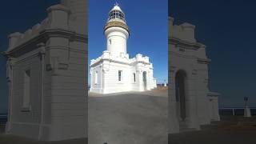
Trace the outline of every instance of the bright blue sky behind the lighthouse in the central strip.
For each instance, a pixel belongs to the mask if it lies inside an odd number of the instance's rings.
[[[98,58],[102,55],[102,51],[106,50],[103,27],[115,2],[89,0],[89,60]],[[158,82],[163,82],[165,79],[168,81],[168,1],[118,0],[117,2],[126,14],[126,22],[130,28],[130,38],[127,42],[130,58],[136,54],[150,57],[150,62],[154,66],[154,78],[157,78]]]

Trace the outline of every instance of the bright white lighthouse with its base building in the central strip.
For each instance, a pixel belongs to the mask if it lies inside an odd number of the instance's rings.
[[[101,94],[122,91],[145,91],[156,87],[149,57],[137,54],[129,58],[126,41],[129,29],[125,14],[118,5],[110,10],[104,28],[107,50],[90,61],[90,91]]]

